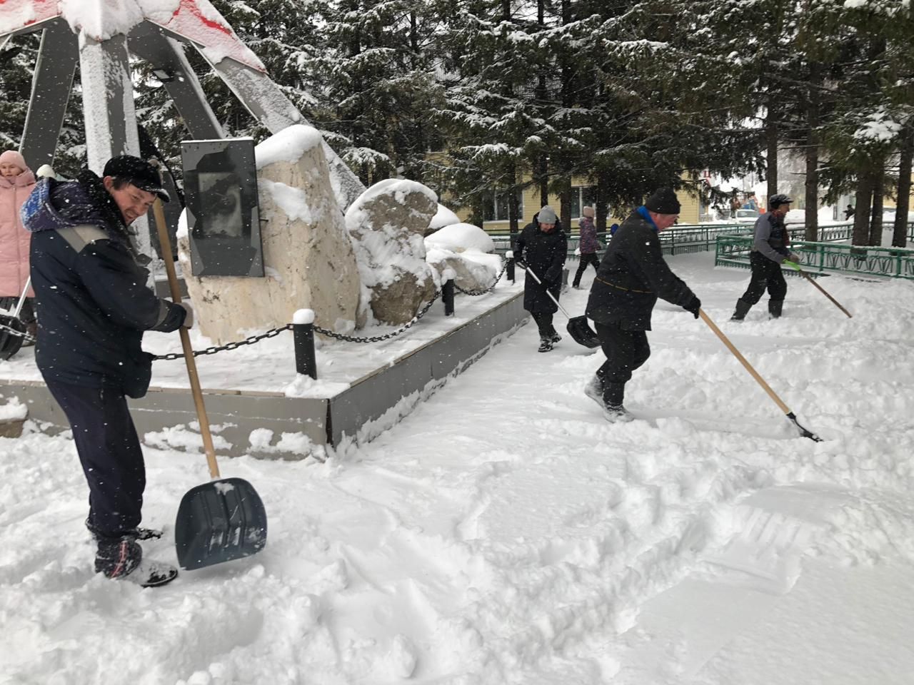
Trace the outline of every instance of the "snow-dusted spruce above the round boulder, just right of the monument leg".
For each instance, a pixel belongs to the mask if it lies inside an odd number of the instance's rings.
[[[437,145],[431,114],[440,18],[421,0],[328,0],[321,49],[297,68],[327,140],[366,185],[402,174],[421,181]]]

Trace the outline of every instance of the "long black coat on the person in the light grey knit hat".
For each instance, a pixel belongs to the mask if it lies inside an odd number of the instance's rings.
[[[552,314],[558,311],[556,303],[562,287],[562,269],[568,253],[569,239],[560,222],[549,233],[539,229],[538,214],[524,227],[515,242],[515,260],[522,261],[537,274],[543,285],[529,274],[524,279],[524,309],[531,314]]]

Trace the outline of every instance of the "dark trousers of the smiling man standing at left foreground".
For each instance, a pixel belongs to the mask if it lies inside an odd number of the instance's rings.
[[[113,388],[48,381],[73,429],[89,483],[89,521],[104,537],[136,528],[142,518],[146,468],[127,399]]]

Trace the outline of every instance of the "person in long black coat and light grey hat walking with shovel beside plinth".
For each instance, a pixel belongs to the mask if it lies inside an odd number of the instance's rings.
[[[568,248],[568,236],[562,230],[555,210],[548,205],[533,216],[533,221],[524,227],[515,242],[515,262],[522,267],[526,265],[541,281],[537,283],[529,274],[524,279],[524,309],[537,321],[539,352],[549,352],[552,345],[562,339],[552,325],[552,315],[558,311],[556,302]]]

